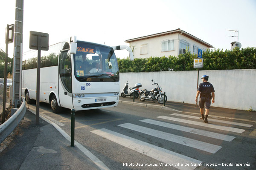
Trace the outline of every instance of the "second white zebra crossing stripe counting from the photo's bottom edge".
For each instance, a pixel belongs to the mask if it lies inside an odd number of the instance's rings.
[[[130,130],[134,130],[140,133],[145,133],[150,136],[154,136],[160,139],[165,139],[171,142],[175,142],[178,144],[183,144],[185,146],[193,147],[195,149],[203,150],[209,153],[216,153],[218,150],[220,150],[222,147],[215,145],[215,144],[209,144],[206,142],[201,142],[195,139],[186,138],[183,136],[174,135],[171,133],[162,132],[159,130],[150,129],[148,127],[138,126],[131,123],[124,123],[122,125],[118,125],[121,127],[125,127]]]

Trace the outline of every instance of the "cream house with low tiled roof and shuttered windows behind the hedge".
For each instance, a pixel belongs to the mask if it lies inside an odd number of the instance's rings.
[[[181,30],[161,32],[144,37],[126,40],[134,53],[134,58],[149,58],[162,56],[178,56],[189,50],[191,54],[198,54],[198,48],[206,51],[212,45]]]

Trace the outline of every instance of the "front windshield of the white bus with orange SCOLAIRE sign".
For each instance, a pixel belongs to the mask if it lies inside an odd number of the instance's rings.
[[[116,55],[108,46],[78,41],[74,68],[80,82],[119,82]]]

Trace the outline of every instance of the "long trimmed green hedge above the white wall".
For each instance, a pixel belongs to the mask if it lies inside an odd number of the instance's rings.
[[[135,58],[134,61],[117,59],[120,72],[192,71],[195,54],[180,54],[178,57]],[[208,50],[203,53],[204,68],[200,70],[255,69],[256,48],[234,48],[233,51]]]

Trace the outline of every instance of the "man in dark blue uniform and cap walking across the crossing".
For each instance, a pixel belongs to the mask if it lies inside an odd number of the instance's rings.
[[[203,82],[200,83],[198,86],[198,91],[195,96],[195,102],[198,102],[198,96],[200,94],[200,98],[199,98],[199,107],[200,107],[200,113],[201,113],[200,119],[204,119],[204,122],[208,123],[207,117],[208,117],[209,109],[211,106],[211,99],[212,99],[212,103],[214,103],[215,94],[214,94],[213,85],[208,82],[209,76],[204,75],[201,79],[203,79]],[[204,117],[204,107],[205,107],[205,117]]]

